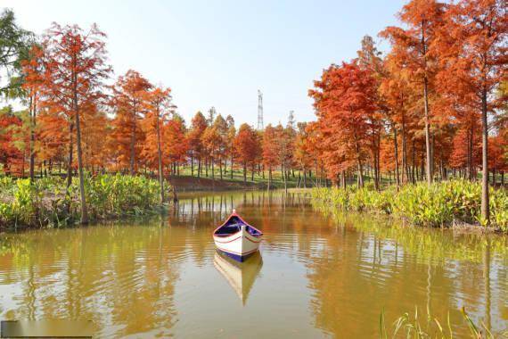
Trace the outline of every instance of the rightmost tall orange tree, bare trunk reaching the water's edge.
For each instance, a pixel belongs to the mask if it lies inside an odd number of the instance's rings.
[[[446,29],[440,32],[448,42],[447,67],[455,81],[474,94],[481,112],[482,194],[481,216],[489,222],[488,208],[488,113],[495,113],[505,101],[494,91],[506,77],[507,8],[503,0],[462,0],[451,4]]]

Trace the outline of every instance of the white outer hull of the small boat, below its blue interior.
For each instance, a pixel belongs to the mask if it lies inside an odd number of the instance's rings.
[[[261,237],[250,235],[245,227],[231,236],[214,236],[213,239],[218,250],[239,261],[258,251],[261,243]]]

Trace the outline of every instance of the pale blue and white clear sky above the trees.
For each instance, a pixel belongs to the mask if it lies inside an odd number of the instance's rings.
[[[216,107],[239,125],[315,120],[307,96],[331,63],[356,57],[360,41],[398,25],[401,0],[0,0],[24,29],[53,21],[97,23],[107,37],[114,76],[133,69],[171,87],[178,112]]]

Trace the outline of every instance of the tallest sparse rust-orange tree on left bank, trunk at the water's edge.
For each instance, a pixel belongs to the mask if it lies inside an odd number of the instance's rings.
[[[104,33],[96,25],[87,32],[78,26],[60,26],[53,23],[45,36],[47,70],[45,71],[45,105],[52,112],[64,112],[76,125],[78,151],[81,222],[88,222],[81,149],[80,113],[86,105],[96,104],[102,98],[102,81],[111,67],[106,64]],[[70,128],[72,131],[72,128]],[[69,168],[72,163],[70,151]],[[69,172],[70,175],[70,172]]]

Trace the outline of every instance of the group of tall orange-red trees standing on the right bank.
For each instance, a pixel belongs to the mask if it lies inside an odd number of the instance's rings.
[[[381,171],[397,186],[475,179],[481,170],[481,213],[488,220],[488,178],[508,164],[507,30],[504,1],[412,0],[398,13],[402,27],[372,37],[357,57],[332,64],[309,90],[317,121],[308,127],[329,178],[345,186],[365,168],[380,187]]]

